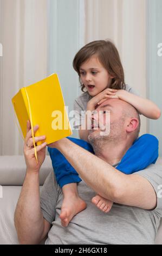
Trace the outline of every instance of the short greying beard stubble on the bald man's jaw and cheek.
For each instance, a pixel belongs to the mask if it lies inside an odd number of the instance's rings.
[[[115,120],[110,124],[109,135],[101,136],[100,129],[94,130],[89,133],[88,140],[92,145],[95,155],[99,155],[103,149],[103,146],[109,143],[114,145],[120,144],[125,139],[124,137],[124,119]]]

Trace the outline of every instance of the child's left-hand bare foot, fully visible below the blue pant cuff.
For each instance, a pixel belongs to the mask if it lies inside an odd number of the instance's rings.
[[[73,194],[71,197],[65,197],[63,199],[61,207],[61,224],[63,227],[67,227],[70,220],[78,214],[80,211],[86,209],[86,203],[80,197]]]

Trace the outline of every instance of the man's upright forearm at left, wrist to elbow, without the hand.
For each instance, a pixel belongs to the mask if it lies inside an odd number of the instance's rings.
[[[15,211],[15,227],[20,243],[37,243],[43,234],[39,174],[27,171]]]

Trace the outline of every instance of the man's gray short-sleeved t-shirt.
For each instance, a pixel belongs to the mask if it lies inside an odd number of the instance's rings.
[[[134,175],[137,174],[150,181],[158,194],[158,186],[162,184],[162,166],[151,164]],[[157,198],[157,207],[154,210],[114,203],[111,211],[105,214],[91,203],[96,193],[83,180],[77,185],[77,190],[87,203],[87,208],[74,216],[68,227],[64,228],[59,218],[62,190],[53,172],[47,177],[41,190],[43,216],[52,224],[46,244],[154,244],[162,217],[162,198]]]

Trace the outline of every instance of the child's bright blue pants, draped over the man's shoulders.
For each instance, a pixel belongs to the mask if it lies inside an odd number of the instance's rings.
[[[92,146],[86,141],[70,137],[68,137],[68,139],[94,154]],[[132,147],[127,150],[116,169],[125,174],[131,174],[138,172],[138,170],[145,169],[151,163],[155,163],[157,161],[158,144],[158,139],[153,135],[142,135],[136,139]],[[81,181],[76,170],[59,150],[55,148],[48,148],[48,151],[53,164],[56,180],[60,187],[69,183]]]

